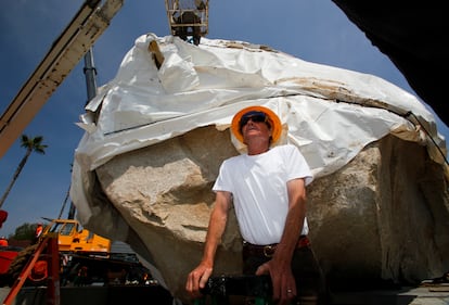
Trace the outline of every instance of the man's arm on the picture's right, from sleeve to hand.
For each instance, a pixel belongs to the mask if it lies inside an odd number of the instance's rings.
[[[273,298],[279,304],[287,302],[296,295],[296,283],[292,274],[292,257],[303,231],[306,217],[306,187],[304,179],[287,182],[288,214],[280,243],[273,258],[261,265],[256,275],[270,274],[273,283]]]

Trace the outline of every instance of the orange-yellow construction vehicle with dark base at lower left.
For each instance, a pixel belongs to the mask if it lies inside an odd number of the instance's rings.
[[[52,219],[42,238],[57,238],[61,285],[156,284],[133,253],[113,253],[111,240],[80,226],[75,219]]]

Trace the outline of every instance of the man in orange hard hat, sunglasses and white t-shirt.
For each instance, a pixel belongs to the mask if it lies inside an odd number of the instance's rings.
[[[269,275],[278,304],[322,304],[323,279],[307,239],[305,187],[312,180],[309,166],[296,147],[272,147],[282,125],[267,107],[240,111],[231,130],[247,147],[247,154],[231,157],[220,167],[203,258],[189,274],[187,291],[192,297],[202,295],[234,204],[244,240],[243,272]]]

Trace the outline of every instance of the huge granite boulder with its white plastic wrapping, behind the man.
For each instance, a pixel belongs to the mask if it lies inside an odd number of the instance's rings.
[[[211,186],[245,150],[229,126],[249,105],[280,116],[280,143],[296,145],[316,177],[310,238],[331,283],[416,283],[449,269],[449,167],[432,113],[375,76],[242,41],[136,40],[79,123],[70,198],[80,223],[129,243],[188,302]],[[218,275],[241,269],[231,214]]]

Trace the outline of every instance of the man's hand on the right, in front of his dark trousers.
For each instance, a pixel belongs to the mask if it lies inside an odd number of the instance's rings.
[[[296,282],[290,264],[279,264],[271,259],[257,268],[256,276],[270,275],[273,285],[273,301],[287,305],[296,297]]]

